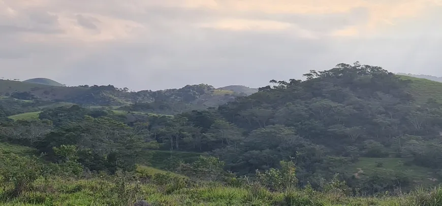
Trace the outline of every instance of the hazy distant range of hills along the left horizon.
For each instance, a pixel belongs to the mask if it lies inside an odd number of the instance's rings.
[[[41,81],[40,81],[41,82]],[[47,81],[46,81],[47,82]],[[246,91],[247,92],[247,91]],[[107,86],[51,86],[27,81],[0,80],[1,98],[70,102],[82,106],[124,107],[127,111],[175,114],[183,111],[217,107],[246,92],[216,89],[211,85],[187,85],[179,89],[129,92]],[[134,104],[136,107],[132,107]]]

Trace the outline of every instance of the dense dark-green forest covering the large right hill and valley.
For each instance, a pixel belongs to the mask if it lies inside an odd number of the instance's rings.
[[[340,180],[345,182],[339,187],[348,187],[345,191],[352,195],[400,193],[442,180],[442,105],[440,99],[425,98],[424,94],[431,96],[422,92],[427,84],[359,62],[310,71],[304,77],[304,81],[271,80],[273,86],[219,107],[173,116],[150,114],[151,102],[122,106],[119,111],[38,106],[40,100],[5,104],[0,107],[0,140],[32,147],[47,154],[49,161],[57,159],[54,148],[71,145],[83,168],[110,174],[117,168],[131,170],[143,164],[201,179],[212,174],[213,167],[192,169],[217,165],[233,173],[227,178],[233,182],[226,184],[242,184],[239,176],[247,176],[262,181],[259,184],[271,191],[282,184],[274,168],[295,174],[287,170],[287,162],[296,167],[296,181],[287,183],[291,187],[325,191],[325,182]],[[207,91],[225,95],[225,90],[199,85],[158,93],[141,91],[136,97],[155,97],[152,102],[161,111],[170,102],[196,102]],[[96,93],[82,98],[100,99]],[[11,111],[33,104],[41,111],[31,113],[33,118],[8,119]],[[164,158],[157,151],[170,155]],[[190,166],[194,154],[221,162],[202,159]],[[267,176],[275,179],[269,181]]]

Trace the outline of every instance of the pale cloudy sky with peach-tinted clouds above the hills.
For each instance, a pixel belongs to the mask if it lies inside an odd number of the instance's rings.
[[[260,87],[338,63],[442,76],[442,0],[0,0],[0,76]]]

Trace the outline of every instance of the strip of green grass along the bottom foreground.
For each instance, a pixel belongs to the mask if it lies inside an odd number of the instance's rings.
[[[396,197],[348,197],[339,193],[306,190],[269,192],[260,187],[237,188],[198,185],[177,189],[146,183],[124,184],[91,179],[39,179],[16,198],[4,198],[2,205],[131,205],[144,199],[151,205],[441,205],[442,189],[418,190]],[[121,201],[123,200],[123,201]],[[128,200],[128,201],[127,201]]]

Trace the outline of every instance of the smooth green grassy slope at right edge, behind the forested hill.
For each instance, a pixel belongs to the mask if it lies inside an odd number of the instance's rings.
[[[420,102],[426,102],[429,98],[442,103],[442,82],[435,82],[428,79],[401,76],[403,80],[411,80],[411,93]]]

